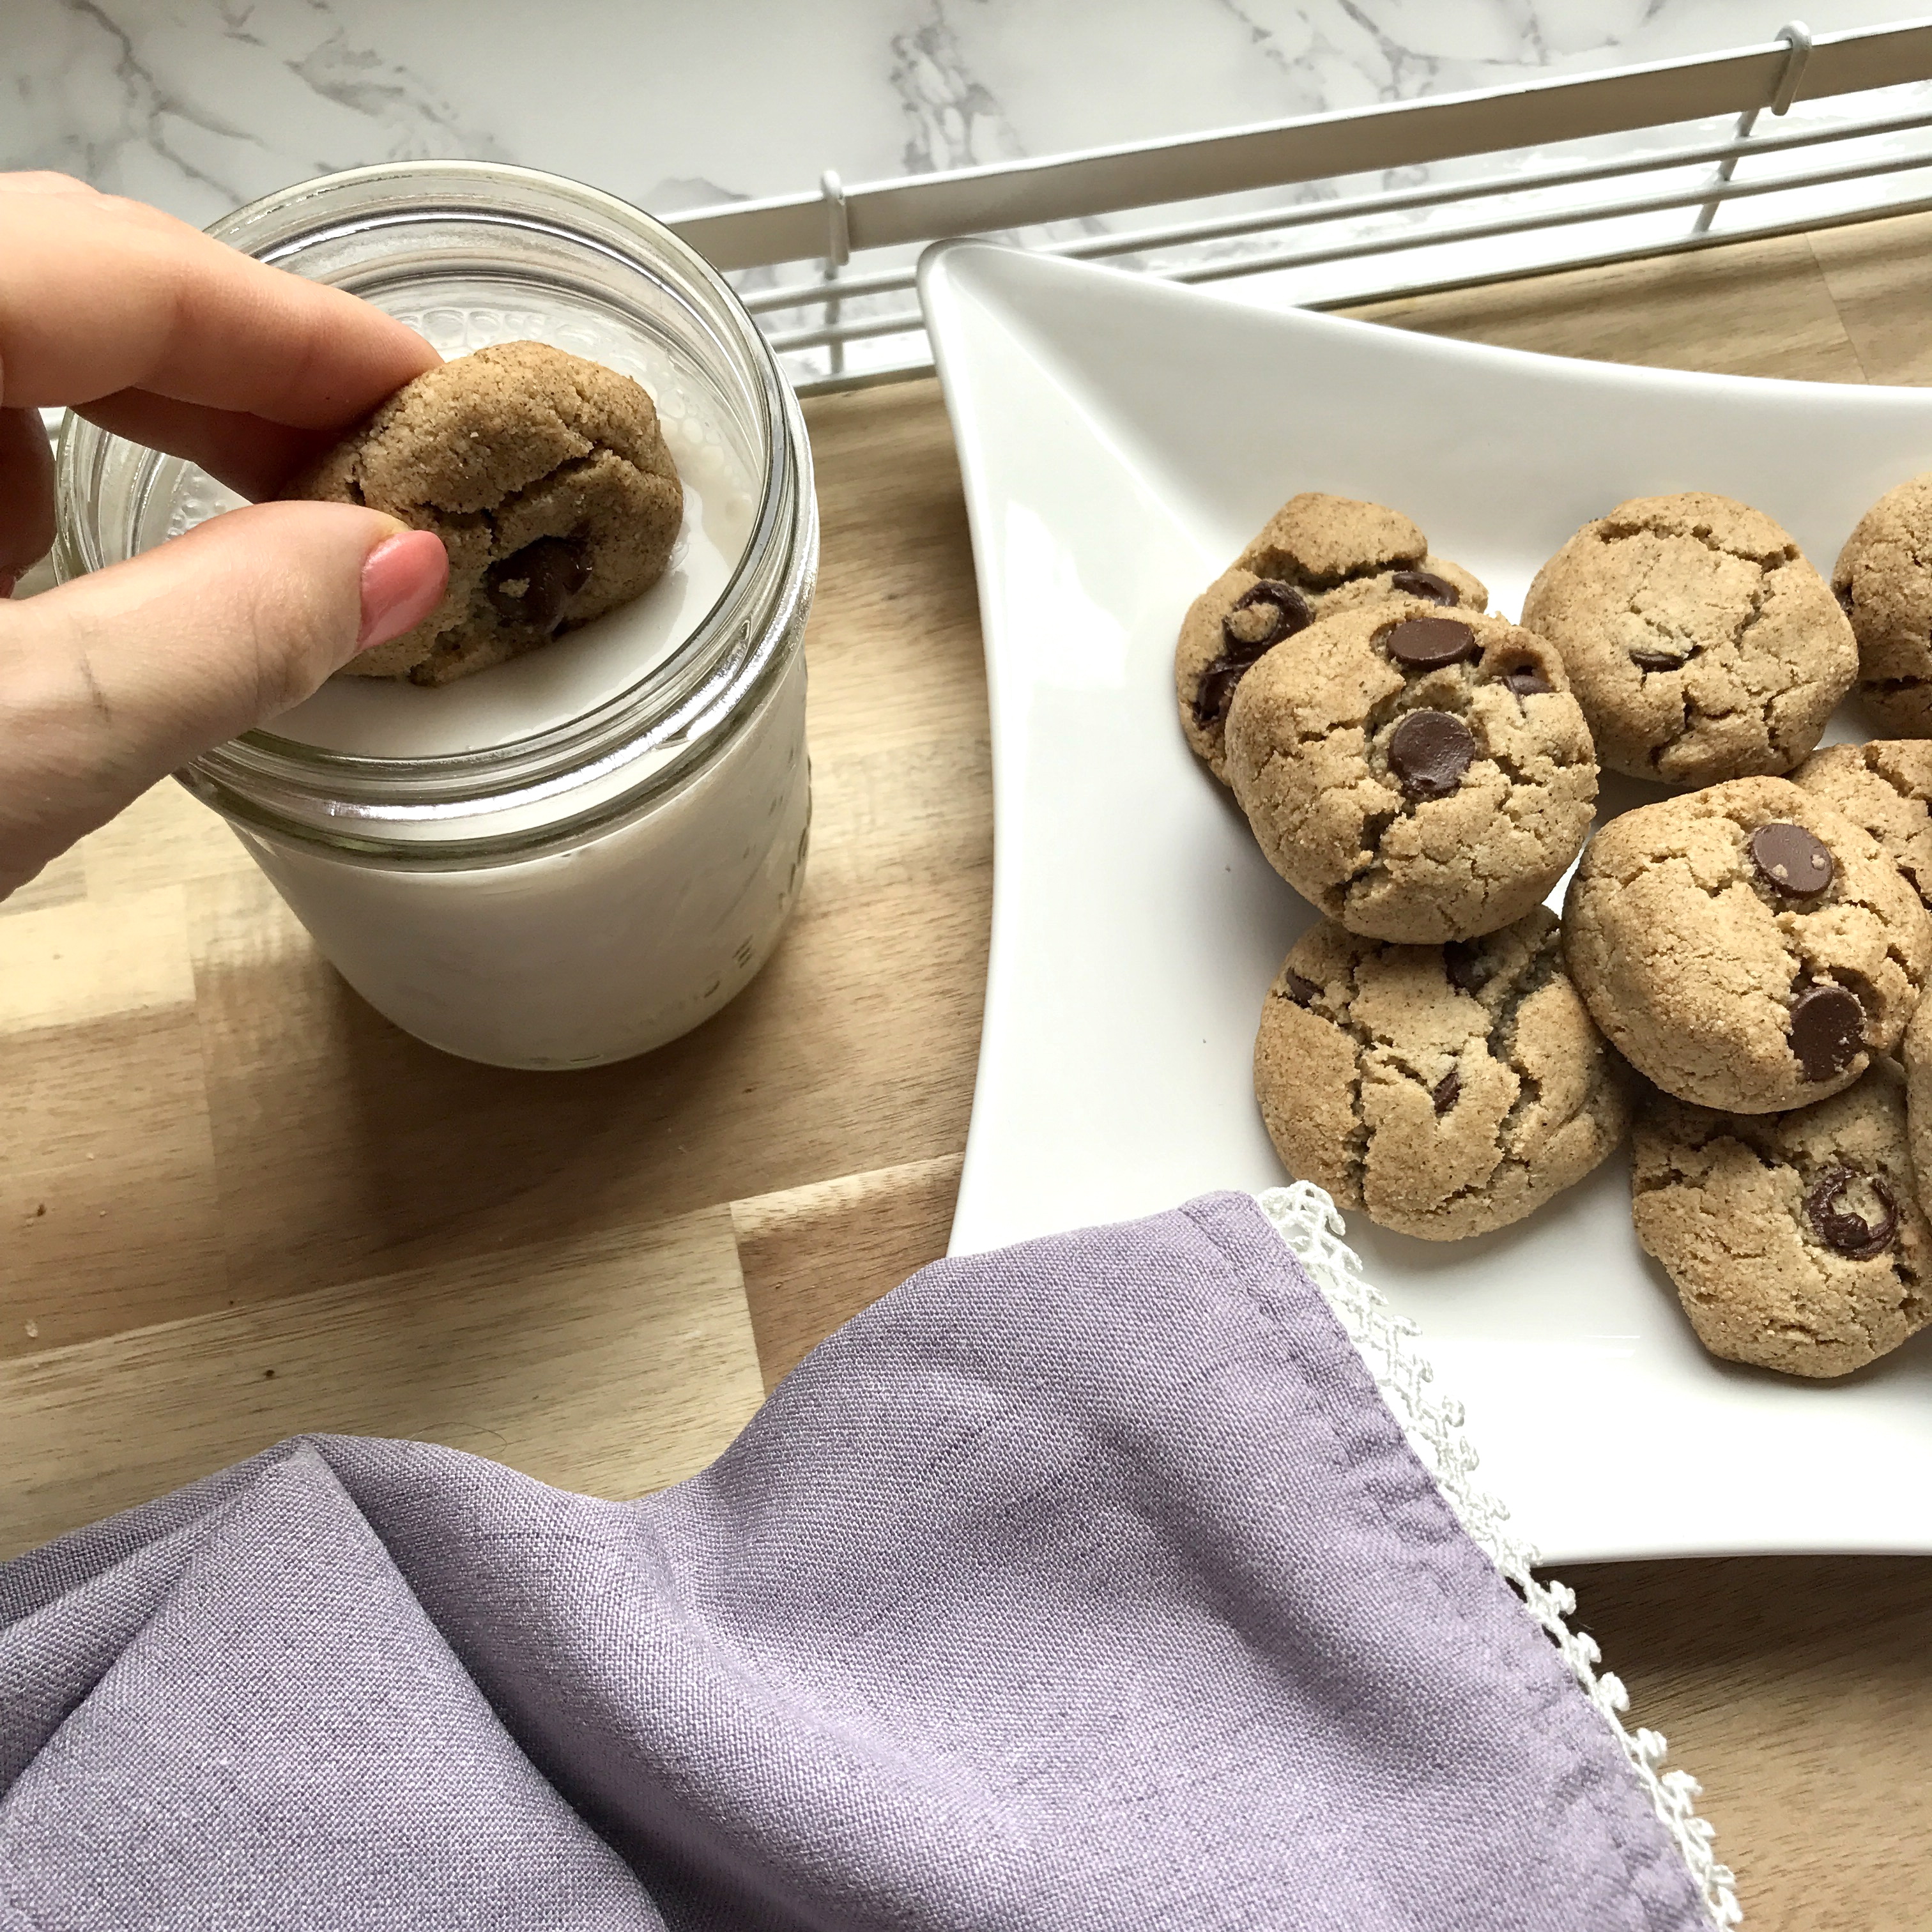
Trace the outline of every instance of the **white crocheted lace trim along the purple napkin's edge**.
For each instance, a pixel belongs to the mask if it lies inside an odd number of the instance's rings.
[[[1737,1903],[1737,1882],[1731,1868],[1712,1857],[1716,1833],[1694,1808],[1702,1785],[1689,1772],[1663,1770],[1669,1747],[1658,1731],[1644,1727],[1631,1731],[1625,1725],[1623,1714],[1631,1708],[1631,1692],[1619,1677],[1598,1671],[1602,1650],[1565,1621],[1577,1609],[1575,1592],[1555,1580],[1538,1582],[1532,1575],[1536,1551],[1509,1534],[1505,1528],[1509,1511],[1476,1484],[1476,1451],[1463,1434],[1463,1405],[1430,1393],[1434,1372],[1412,1347],[1414,1321],[1391,1314],[1379,1291],[1362,1279],[1360,1260],[1343,1244],[1347,1233],[1343,1219],[1321,1188],[1296,1180],[1294,1186],[1269,1188],[1258,1198],[1262,1213],[1294,1250],[1294,1258],[1308,1269],[1335,1320],[1368,1362],[1408,1445],[1435,1478],[1463,1528],[1509,1578],[1528,1613],[1571,1667],[1582,1694],[1615,1731],[1660,1824],[1683,1853],[1712,1924],[1739,1924],[1745,1915]]]

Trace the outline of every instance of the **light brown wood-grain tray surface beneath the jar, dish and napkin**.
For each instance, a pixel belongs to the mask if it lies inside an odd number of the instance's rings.
[[[1932,218],[1362,313],[1932,383]],[[759,981],[684,1041],[580,1074],[417,1045],[172,784],[0,902],[0,1553],[311,1428],[634,1495],[943,1252],[991,895],[966,516],[931,383],[808,419],[810,875]],[[1932,1563],[1569,1580],[1634,1719],[1704,1779],[1750,1926],[1932,1922]]]

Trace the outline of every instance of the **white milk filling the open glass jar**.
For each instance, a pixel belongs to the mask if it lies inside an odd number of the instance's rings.
[[[763,477],[752,477],[711,398],[651,342],[597,317],[425,309],[404,319],[444,354],[551,340],[643,381],[684,483],[684,526],[665,576],[632,605],[442,688],[334,678],[267,726],[290,748],[439,759],[566,726],[674,655],[730,582],[757,516]],[[166,520],[151,537],[234,502],[176,466],[151,497],[153,520]],[[810,508],[806,527],[815,551]],[[804,659],[788,638],[723,752],[616,823],[506,862],[442,866],[435,846],[450,827],[433,821],[381,827],[392,844],[415,840],[429,869],[234,827],[348,983],[419,1039],[502,1066],[626,1059],[717,1012],[777,945],[810,821],[804,705]],[[479,829],[543,838],[551,821],[630,796],[674,755],[653,752],[620,773],[572,781],[560,800],[483,813]]]

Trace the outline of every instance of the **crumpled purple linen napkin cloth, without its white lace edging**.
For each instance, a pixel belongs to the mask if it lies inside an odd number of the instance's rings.
[[[1692,1932],[1246,1196],[941,1262],[636,1503],[303,1437],[0,1567],[0,1926]]]

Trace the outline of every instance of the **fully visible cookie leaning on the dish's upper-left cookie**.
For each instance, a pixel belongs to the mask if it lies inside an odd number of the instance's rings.
[[[1408,945],[1520,920],[1596,802],[1555,649],[1418,597],[1275,645],[1235,692],[1227,775],[1289,885],[1349,931]]]

